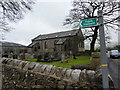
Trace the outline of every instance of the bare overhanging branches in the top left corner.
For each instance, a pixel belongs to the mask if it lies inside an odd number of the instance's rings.
[[[32,0],[1,0],[0,1],[0,31],[9,31],[8,22],[23,19],[26,11],[31,10]]]

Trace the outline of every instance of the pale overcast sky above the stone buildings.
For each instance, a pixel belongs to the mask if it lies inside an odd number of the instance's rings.
[[[63,26],[72,0],[39,0],[23,20],[14,24],[14,30],[5,33],[5,41],[29,45],[31,39],[40,34],[69,30]],[[116,41],[115,33],[111,36]]]

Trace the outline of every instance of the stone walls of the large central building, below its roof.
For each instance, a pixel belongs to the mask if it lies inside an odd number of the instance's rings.
[[[37,55],[45,55],[47,53],[49,56],[61,56],[62,53],[67,55],[70,52],[77,53],[84,48],[84,39],[80,35],[81,32],[78,32],[77,36],[33,41],[36,44],[32,47],[32,52]],[[65,38],[64,44],[55,45],[56,41]]]

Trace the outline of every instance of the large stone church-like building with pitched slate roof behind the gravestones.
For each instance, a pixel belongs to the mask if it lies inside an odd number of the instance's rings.
[[[84,37],[79,29],[43,34],[32,39],[29,48],[34,55],[42,58],[67,57],[84,49]]]

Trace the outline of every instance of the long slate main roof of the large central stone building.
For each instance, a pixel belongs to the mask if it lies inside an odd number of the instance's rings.
[[[57,33],[51,33],[51,34],[43,34],[43,35],[39,35],[39,36],[35,37],[32,40],[37,41],[37,40],[45,40],[45,39],[75,36],[76,33],[77,33],[77,30],[69,30],[69,31],[57,32]]]

